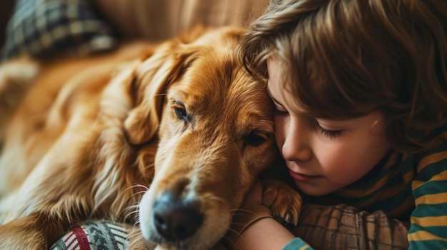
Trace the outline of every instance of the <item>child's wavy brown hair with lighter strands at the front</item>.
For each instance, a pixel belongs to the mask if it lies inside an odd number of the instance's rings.
[[[274,56],[284,88],[308,115],[378,110],[395,150],[439,143],[432,139],[447,125],[446,0],[273,0],[266,12],[239,51],[253,76],[266,80]]]

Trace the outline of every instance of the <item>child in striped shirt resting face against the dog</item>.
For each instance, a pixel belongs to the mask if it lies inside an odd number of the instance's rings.
[[[446,0],[271,1],[241,55],[308,202],[383,210],[411,223],[409,249],[447,249]],[[268,217],[233,246],[311,248]]]

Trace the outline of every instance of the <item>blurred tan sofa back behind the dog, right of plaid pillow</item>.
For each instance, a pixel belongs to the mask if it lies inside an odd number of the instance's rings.
[[[125,37],[152,41],[196,26],[246,26],[268,0],[94,0]]]

